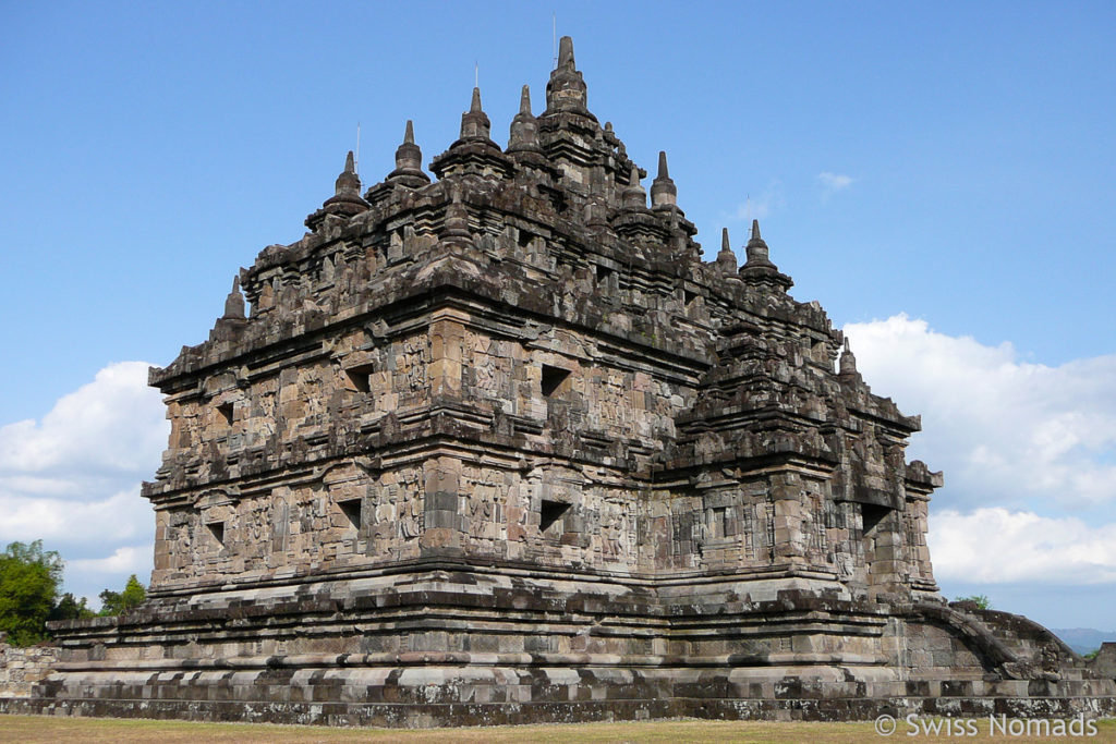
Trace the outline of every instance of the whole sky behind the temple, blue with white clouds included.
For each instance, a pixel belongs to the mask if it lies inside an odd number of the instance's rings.
[[[142,572],[134,489],[165,442],[143,366],[113,365],[203,340],[237,269],[331,194],[357,122],[366,185],[407,118],[429,163],[475,65],[504,142],[522,84],[542,108],[554,10],[590,109],[644,167],[667,151],[699,240],[739,247],[759,216],[795,297],[855,323],[874,389],[924,415],[939,522],[1037,561],[935,534],[946,593],[1116,630],[1109,2],[0,2],[0,542],[47,538],[84,593]]]

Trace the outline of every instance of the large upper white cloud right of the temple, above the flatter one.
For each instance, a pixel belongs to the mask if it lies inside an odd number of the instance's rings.
[[[845,332],[874,392],[923,415],[910,454],[945,470],[939,503],[1116,505],[1116,355],[1030,364],[905,315]]]

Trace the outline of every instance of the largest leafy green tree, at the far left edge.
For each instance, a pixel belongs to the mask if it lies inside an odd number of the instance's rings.
[[[46,621],[62,580],[61,555],[42,541],[13,542],[0,553],[0,630],[8,642],[30,646],[46,640]]]

